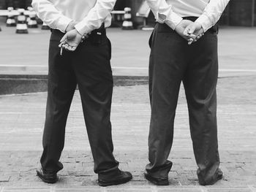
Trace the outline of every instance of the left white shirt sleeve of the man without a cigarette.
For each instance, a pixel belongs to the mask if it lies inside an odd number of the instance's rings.
[[[173,30],[181,23],[181,16],[173,12],[172,5],[165,0],[147,0],[154,16],[159,23],[166,23]]]

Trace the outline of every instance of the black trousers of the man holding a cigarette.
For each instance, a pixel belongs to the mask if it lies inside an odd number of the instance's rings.
[[[59,158],[64,147],[69,107],[78,85],[94,158],[94,172],[108,173],[118,169],[118,162],[113,157],[110,123],[113,93],[110,41],[105,34],[105,28],[100,28],[93,31],[89,39],[81,43],[75,52],[64,50],[63,55],[60,55],[58,45],[63,35],[61,31],[53,30],[50,37],[42,169],[47,172],[59,172],[63,169]]]

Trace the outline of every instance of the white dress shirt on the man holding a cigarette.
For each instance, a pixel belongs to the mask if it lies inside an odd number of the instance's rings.
[[[33,0],[32,7],[38,17],[50,28],[66,31],[69,23],[79,22],[75,28],[80,34],[111,24],[110,12],[116,0]]]

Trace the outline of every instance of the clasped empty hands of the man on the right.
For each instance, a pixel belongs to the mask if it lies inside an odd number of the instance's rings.
[[[176,26],[175,31],[187,40],[188,45],[197,42],[197,40],[203,37],[204,34],[200,23],[192,22],[191,20],[181,20],[181,23]]]

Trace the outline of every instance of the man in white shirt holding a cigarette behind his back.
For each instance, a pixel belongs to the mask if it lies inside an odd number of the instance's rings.
[[[33,0],[32,6],[50,28],[48,101],[43,134],[42,168],[37,175],[56,183],[64,147],[69,107],[78,84],[83,115],[94,158],[94,172],[101,186],[127,183],[132,174],[118,169],[113,157],[110,107],[113,76],[111,45],[105,27],[110,26],[116,0]],[[80,43],[69,52],[59,48],[66,32],[75,33]],[[81,42],[82,37],[88,37]]]

